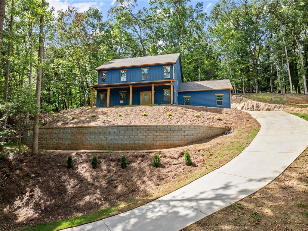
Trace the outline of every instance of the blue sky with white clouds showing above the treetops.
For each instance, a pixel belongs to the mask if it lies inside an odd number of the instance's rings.
[[[83,12],[87,11],[89,8],[98,8],[103,14],[103,20],[107,19],[107,11],[111,6],[115,5],[115,0],[103,1],[103,0],[47,0],[49,5],[55,7],[55,11],[58,10],[65,10],[68,6],[74,6],[78,11]],[[216,0],[209,0],[209,1],[191,1],[189,4],[195,6],[197,2],[203,2],[204,10],[209,13],[215,3]],[[148,0],[138,1],[138,8],[142,7],[149,7]],[[55,13],[56,14],[56,13]]]

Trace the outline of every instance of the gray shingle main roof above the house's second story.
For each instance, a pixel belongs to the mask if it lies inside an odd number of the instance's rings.
[[[175,63],[180,53],[167,54],[167,55],[154,55],[145,57],[125,58],[125,59],[113,59],[103,65],[100,65],[96,69],[107,69],[126,66],[141,66],[151,65],[156,63]]]

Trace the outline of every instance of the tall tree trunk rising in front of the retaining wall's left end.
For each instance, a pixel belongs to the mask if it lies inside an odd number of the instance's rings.
[[[45,0],[42,0],[42,9],[45,8]],[[41,103],[41,84],[42,84],[42,70],[43,70],[43,49],[44,49],[44,13],[40,19],[40,36],[39,36],[39,66],[37,70],[36,78],[36,91],[35,91],[35,103],[36,113],[34,115],[33,122],[33,141],[32,141],[32,153],[37,154],[39,152],[39,110]]]

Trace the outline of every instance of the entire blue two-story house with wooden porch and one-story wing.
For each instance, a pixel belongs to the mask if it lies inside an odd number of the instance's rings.
[[[98,68],[90,85],[91,107],[185,104],[230,108],[229,79],[183,82],[180,53],[111,60]]]

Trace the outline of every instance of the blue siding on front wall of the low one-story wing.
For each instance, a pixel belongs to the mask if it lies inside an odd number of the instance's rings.
[[[216,94],[223,94],[222,105],[217,105]],[[182,91],[179,92],[179,104],[184,104],[185,96],[190,96],[193,106],[230,108],[229,90]]]

